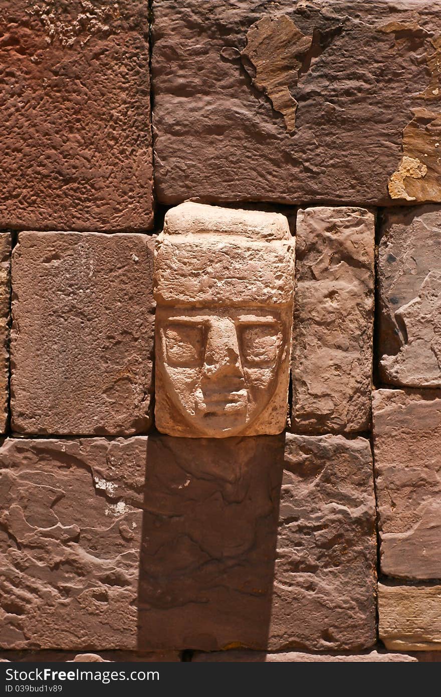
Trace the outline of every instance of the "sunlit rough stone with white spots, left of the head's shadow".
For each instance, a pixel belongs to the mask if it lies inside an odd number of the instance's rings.
[[[0,648],[137,648],[147,438],[0,448]]]

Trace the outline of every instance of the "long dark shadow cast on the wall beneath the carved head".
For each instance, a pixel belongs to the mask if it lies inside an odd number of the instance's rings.
[[[268,646],[284,439],[149,436],[139,649]]]

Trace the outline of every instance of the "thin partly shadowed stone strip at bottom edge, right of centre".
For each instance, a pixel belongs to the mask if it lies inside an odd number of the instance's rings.
[[[363,654],[313,654],[290,651],[288,653],[265,653],[263,651],[214,651],[197,653],[196,663],[416,663],[418,659],[406,654],[379,653]]]

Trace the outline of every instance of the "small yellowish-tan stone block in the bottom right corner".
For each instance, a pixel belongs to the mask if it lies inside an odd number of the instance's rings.
[[[441,650],[441,585],[379,583],[378,614],[387,649]]]

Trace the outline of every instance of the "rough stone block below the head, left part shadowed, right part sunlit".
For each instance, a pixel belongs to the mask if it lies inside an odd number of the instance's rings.
[[[284,455],[284,436],[160,436],[148,462],[144,648],[375,643],[369,441],[288,434]]]

